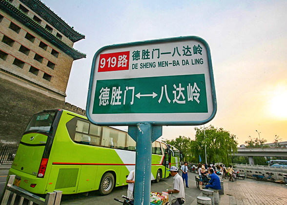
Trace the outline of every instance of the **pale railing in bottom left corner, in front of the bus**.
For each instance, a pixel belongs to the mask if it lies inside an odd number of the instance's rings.
[[[1,199],[1,205],[14,205],[17,200],[17,196],[20,196],[18,205],[22,205],[26,199],[28,205],[60,205],[62,198],[62,191],[49,192],[46,198],[43,199],[37,195],[34,195],[19,186],[13,185],[15,180],[15,175],[9,175],[8,183],[4,189],[4,194]]]

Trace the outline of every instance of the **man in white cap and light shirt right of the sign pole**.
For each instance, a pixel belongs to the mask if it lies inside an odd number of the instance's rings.
[[[185,202],[184,180],[176,166],[171,166],[168,171],[173,176],[172,189],[167,190],[168,194],[171,194],[171,205],[182,205]]]

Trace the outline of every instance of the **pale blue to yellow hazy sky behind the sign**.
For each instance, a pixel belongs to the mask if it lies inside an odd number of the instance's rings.
[[[85,39],[74,48],[66,102],[86,108],[92,59],[101,47],[198,36],[210,47],[217,100],[212,121],[237,136],[287,141],[286,0],[42,0]],[[195,126],[163,126],[163,138],[195,138]],[[200,126],[199,126],[200,127]],[[203,127],[203,125],[201,125]],[[258,130],[258,132],[256,132]]]

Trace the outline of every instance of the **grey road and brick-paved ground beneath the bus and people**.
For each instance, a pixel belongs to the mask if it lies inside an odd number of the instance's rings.
[[[8,173],[9,167],[0,165],[0,196]],[[186,205],[197,205],[196,197],[202,192],[196,187],[194,173],[188,174],[189,188],[185,188]],[[152,183],[151,191],[162,192],[172,187],[172,177]],[[121,205],[113,198],[121,199],[122,194],[126,195],[127,186],[115,188],[111,194],[101,196],[98,191],[89,193],[89,196],[82,194],[64,195],[62,205]],[[224,180],[224,195],[220,195],[221,205],[287,205],[287,185],[271,182],[257,182],[253,179],[238,179],[236,182]]]

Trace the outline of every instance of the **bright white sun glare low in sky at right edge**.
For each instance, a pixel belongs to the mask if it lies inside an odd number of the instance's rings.
[[[287,120],[287,87],[277,87],[270,100],[272,117]]]

